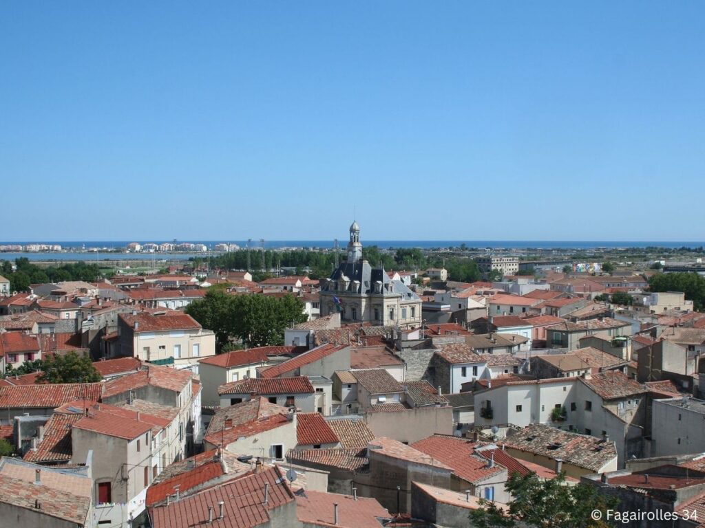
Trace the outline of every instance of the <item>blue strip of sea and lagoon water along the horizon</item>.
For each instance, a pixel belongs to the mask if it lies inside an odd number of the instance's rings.
[[[123,249],[130,242],[128,241],[10,241],[1,242],[1,245],[21,245],[27,244],[58,244],[64,251],[61,252],[0,252],[0,260],[14,260],[15,258],[25,257],[30,260],[152,260],[173,261],[173,260],[188,260],[189,258],[203,257],[205,253],[114,253],[116,249]],[[140,244],[153,242],[161,244],[169,241],[145,240],[140,241]],[[204,244],[209,249],[212,249],[216,244],[238,244],[240,248],[247,248],[246,240],[216,240],[216,241],[200,241],[200,240],[179,240],[178,243],[190,242],[192,244]],[[345,247],[347,241],[341,240],[339,244],[341,248]],[[366,246],[378,246],[381,249],[397,249],[397,248],[419,248],[419,249],[445,249],[457,248],[461,244],[465,244],[467,248],[491,249],[495,251],[502,250],[518,250],[518,249],[541,249],[541,250],[557,250],[565,251],[575,249],[577,251],[587,249],[625,249],[625,248],[646,248],[646,247],[662,247],[662,248],[680,248],[690,247],[697,248],[705,246],[702,241],[578,241],[578,240],[366,240]],[[261,244],[259,241],[250,242],[252,249],[259,249]],[[332,240],[267,240],[264,241],[265,249],[333,249]],[[96,251],[97,250],[97,251]],[[212,254],[212,253],[210,253]]]

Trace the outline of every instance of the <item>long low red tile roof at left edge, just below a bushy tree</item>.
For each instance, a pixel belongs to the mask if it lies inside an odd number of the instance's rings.
[[[98,401],[102,390],[102,383],[0,386],[0,408],[57,408],[69,401]]]

